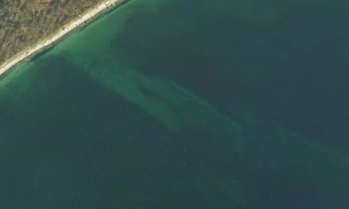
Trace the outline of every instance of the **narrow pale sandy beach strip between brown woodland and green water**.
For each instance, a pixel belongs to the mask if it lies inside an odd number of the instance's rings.
[[[24,60],[25,58],[29,57],[30,55],[41,51],[42,49],[44,49],[44,47],[54,43],[55,41],[59,40],[62,36],[64,36],[65,34],[67,34],[69,31],[74,30],[75,28],[77,28],[79,25],[83,24],[84,22],[86,22],[87,20],[91,19],[92,17],[96,16],[98,13],[104,13],[105,11],[107,11],[110,7],[113,7],[116,5],[117,2],[122,1],[122,0],[110,0],[110,1],[106,1],[104,3],[102,3],[101,5],[99,5],[97,8],[95,8],[94,10],[92,10],[90,13],[82,16],[79,20],[73,22],[72,24],[70,24],[67,28],[65,28],[64,30],[60,31],[58,34],[56,34],[52,39],[38,44],[36,47],[29,49],[27,52],[23,53],[22,55],[18,56],[16,59],[14,59],[12,62],[7,63],[5,66],[0,68],[0,75],[4,72],[6,72],[7,70],[9,70],[10,68],[14,67],[18,62]]]

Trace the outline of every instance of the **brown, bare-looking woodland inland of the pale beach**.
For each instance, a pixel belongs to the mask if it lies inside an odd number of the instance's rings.
[[[0,0],[0,65],[106,0]]]

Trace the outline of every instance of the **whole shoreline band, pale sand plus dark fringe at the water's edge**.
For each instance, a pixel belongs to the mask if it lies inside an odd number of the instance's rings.
[[[66,38],[66,35],[68,33],[75,32],[75,29],[78,29],[79,26],[83,24],[89,24],[93,21],[95,21],[98,16],[101,16],[111,10],[113,10],[116,6],[119,6],[120,3],[122,2],[127,2],[128,0],[109,0],[98,7],[94,8],[92,11],[89,13],[83,15],[80,17],[78,20],[74,21],[72,24],[70,24],[68,27],[65,29],[61,30],[57,34],[55,34],[51,39],[44,41],[42,43],[39,43],[36,45],[34,48],[29,49],[26,52],[21,52],[14,56],[15,58],[10,59],[8,62],[5,62],[3,65],[0,66],[0,81],[5,78],[8,73],[10,73],[11,69],[15,68],[18,63],[22,63],[21,61],[24,61],[25,59],[29,59],[32,56],[37,55],[38,53],[44,51],[45,49],[53,47],[53,44],[62,38]],[[4,74],[7,75],[4,75]]]

